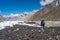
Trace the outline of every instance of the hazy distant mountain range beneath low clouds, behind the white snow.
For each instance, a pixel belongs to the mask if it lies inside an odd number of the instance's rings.
[[[10,16],[10,17],[3,17],[0,15],[0,22],[2,21],[27,21],[32,14],[22,14],[22,15],[18,15],[18,16]]]

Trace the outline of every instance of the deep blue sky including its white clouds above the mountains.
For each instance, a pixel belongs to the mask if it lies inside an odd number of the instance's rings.
[[[40,10],[53,0],[0,0],[0,15],[21,14]]]

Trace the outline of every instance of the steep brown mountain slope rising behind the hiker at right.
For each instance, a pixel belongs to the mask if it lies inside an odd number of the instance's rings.
[[[29,18],[30,21],[40,21],[41,19],[47,21],[60,21],[60,0],[55,0],[51,4],[46,5],[46,7]]]

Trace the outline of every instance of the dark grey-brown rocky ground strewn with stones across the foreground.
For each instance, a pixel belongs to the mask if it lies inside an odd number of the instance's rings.
[[[14,25],[0,30],[0,40],[60,40],[60,27],[39,27]]]

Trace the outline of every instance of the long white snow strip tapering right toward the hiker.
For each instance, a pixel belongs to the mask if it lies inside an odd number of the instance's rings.
[[[13,25],[27,25],[27,26],[33,26],[33,27],[41,27],[37,24],[26,24],[24,21],[4,21],[0,23],[0,30],[4,29],[6,26],[13,27]]]

